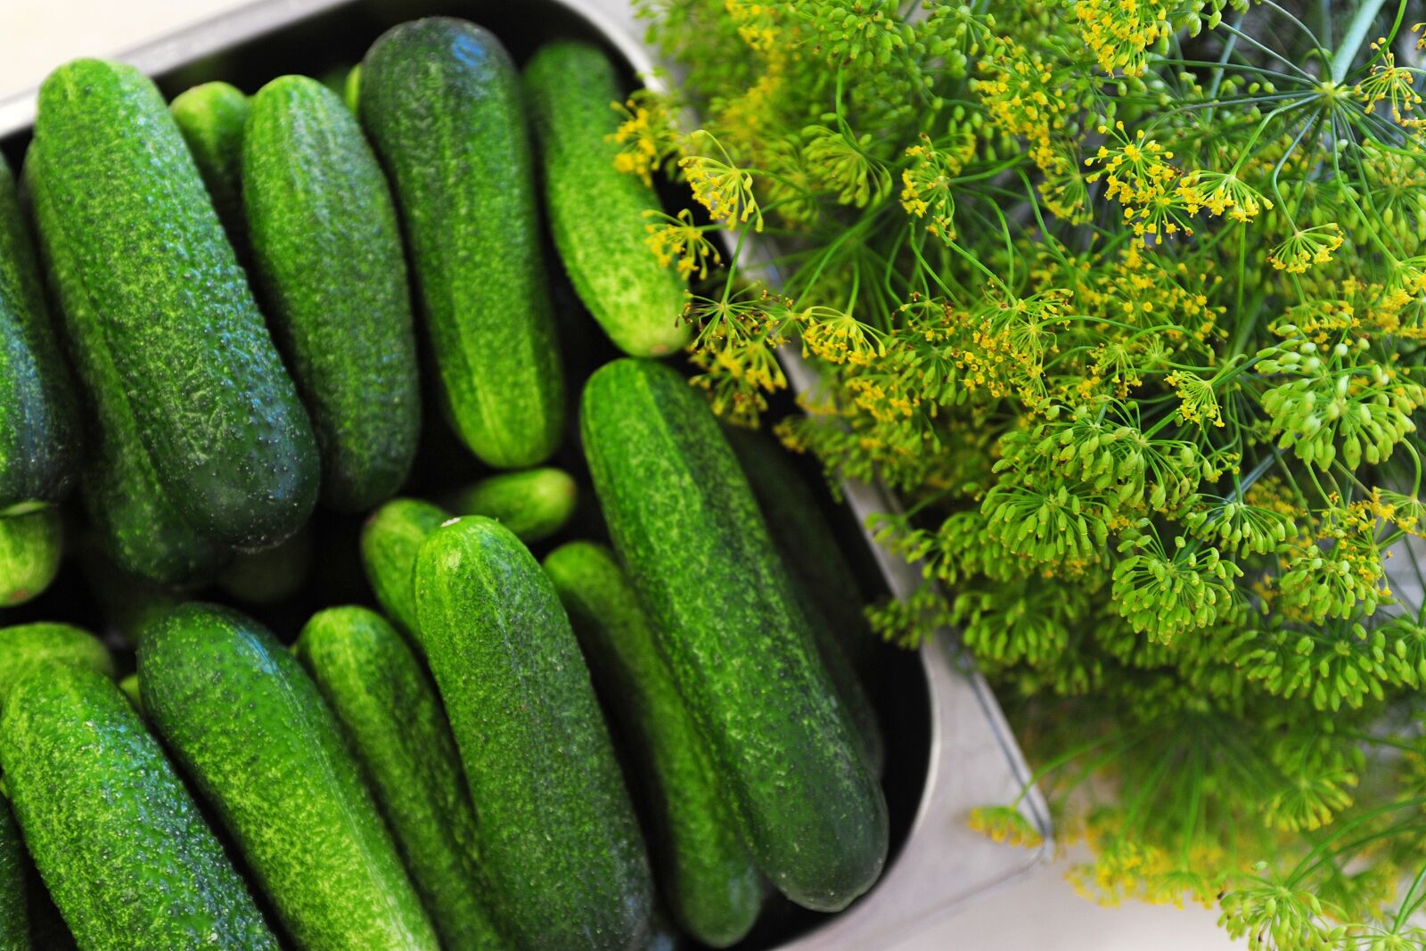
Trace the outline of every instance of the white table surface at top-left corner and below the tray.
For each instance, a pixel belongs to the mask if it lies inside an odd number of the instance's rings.
[[[54,66],[104,56],[242,6],[242,0],[0,0],[0,97]],[[1131,903],[1101,908],[1045,865],[884,951],[1226,951],[1216,913]],[[877,951],[868,948],[868,951]]]

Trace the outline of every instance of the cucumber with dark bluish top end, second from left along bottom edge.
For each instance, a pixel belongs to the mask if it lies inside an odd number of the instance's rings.
[[[271,633],[183,605],[138,646],[138,690],[298,945],[436,950],[341,727]]]

